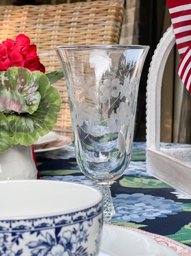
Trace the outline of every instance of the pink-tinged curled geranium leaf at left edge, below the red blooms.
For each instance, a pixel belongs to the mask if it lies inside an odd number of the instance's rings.
[[[4,113],[29,112],[22,95],[18,92],[7,91],[4,87],[0,87],[0,111]]]

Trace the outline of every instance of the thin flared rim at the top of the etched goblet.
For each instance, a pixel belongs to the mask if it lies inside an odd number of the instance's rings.
[[[148,45],[61,45],[55,50],[128,50],[128,49],[149,49]]]

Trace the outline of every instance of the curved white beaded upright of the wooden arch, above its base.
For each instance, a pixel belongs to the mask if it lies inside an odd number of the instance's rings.
[[[155,49],[150,63],[146,87],[146,141],[147,147],[159,150],[160,100],[162,75],[168,55],[175,44],[173,27],[169,27]]]

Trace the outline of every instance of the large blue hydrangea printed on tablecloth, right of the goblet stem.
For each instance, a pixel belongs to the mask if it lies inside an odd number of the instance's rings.
[[[143,193],[116,195],[113,197],[113,205],[115,215],[112,221],[121,222],[142,222],[145,219],[167,217],[169,214],[177,214],[183,211],[182,208],[186,208],[179,202]]]

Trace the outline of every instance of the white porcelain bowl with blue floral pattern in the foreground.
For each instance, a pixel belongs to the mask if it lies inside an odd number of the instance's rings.
[[[75,183],[0,181],[0,255],[98,255],[102,203],[98,190]]]

